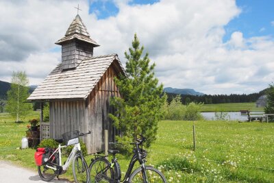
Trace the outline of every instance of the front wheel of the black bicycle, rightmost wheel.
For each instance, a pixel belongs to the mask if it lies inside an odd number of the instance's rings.
[[[158,169],[155,169],[154,167],[146,167],[147,171],[147,182],[157,182],[161,183],[164,182],[166,183],[166,178],[164,178],[164,175],[158,171]],[[139,183],[139,182],[145,182],[144,179],[142,178],[142,169],[139,167],[136,169],[132,175],[129,176],[129,183]]]

